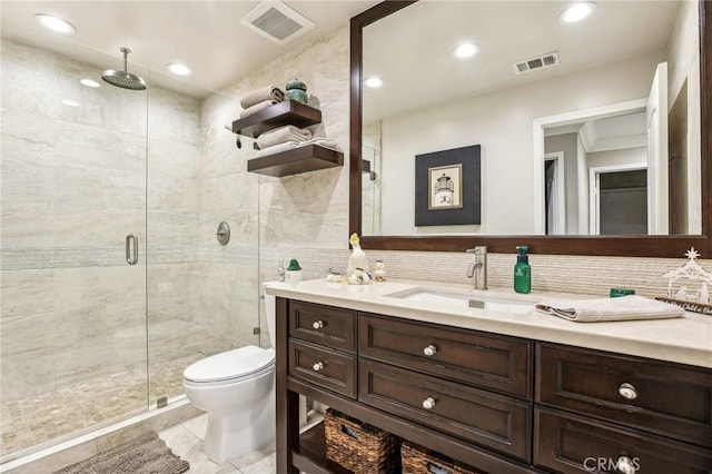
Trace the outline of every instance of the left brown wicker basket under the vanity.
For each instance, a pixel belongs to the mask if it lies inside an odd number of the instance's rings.
[[[328,408],[324,416],[326,457],[354,474],[400,472],[400,438]]]

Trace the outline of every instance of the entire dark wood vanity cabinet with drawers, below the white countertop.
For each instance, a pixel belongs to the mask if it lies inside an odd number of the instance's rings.
[[[483,473],[712,473],[712,371],[277,300],[280,474],[348,473],[298,394]]]

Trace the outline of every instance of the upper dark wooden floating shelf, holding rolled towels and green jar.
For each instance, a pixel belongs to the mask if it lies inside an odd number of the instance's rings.
[[[255,138],[267,130],[285,125],[304,128],[320,121],[322,110],[305,106],[296,100],[285,100],[235,120],[233,122],[233,132]]]

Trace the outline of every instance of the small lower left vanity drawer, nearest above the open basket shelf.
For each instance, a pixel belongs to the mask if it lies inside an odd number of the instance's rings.
[[[356,357],[289,339],[289,375],[356,398]]]

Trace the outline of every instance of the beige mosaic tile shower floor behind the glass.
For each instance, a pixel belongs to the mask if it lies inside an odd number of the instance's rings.
[[[182,371],[199,354],[151,365],[150,401],[182,393]],[[160,395],[154,395],[160,394]],[[36,396],[0,402],[0,454],[14,453],[146,409],[146,373],[102,376]],[[79,415],[78,415],[79,414]]]

